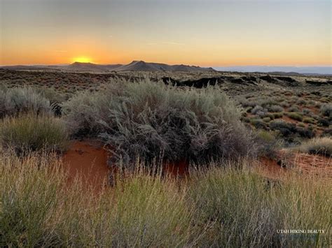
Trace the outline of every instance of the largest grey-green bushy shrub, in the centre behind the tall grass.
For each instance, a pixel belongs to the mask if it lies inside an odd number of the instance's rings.
[[[128,164],[136,156],[149,160],[160,154],[167,160],[200,161],[254,152],[240,112],[217,87],[179,90],[148,80],[109,87],[93,101],[74,97],[64,112],[74,134],[101,133],[106,144],[116,147],[116,161]]]

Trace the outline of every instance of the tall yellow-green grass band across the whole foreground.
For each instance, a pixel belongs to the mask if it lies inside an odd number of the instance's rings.
[[[179,184],[137,164],[134,173],[96,195],[80,178],[66,187],[56,156],[2,154],[0,245],[331,245],[331,182],[300,177],[270,182],[248,165],[212,164]],[[279,229],[322,229],[324,234],[282,235]]]

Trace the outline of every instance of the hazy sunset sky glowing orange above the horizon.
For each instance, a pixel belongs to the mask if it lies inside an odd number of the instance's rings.
[[[0,65],[330,66],[330,0],[0,0]]]

